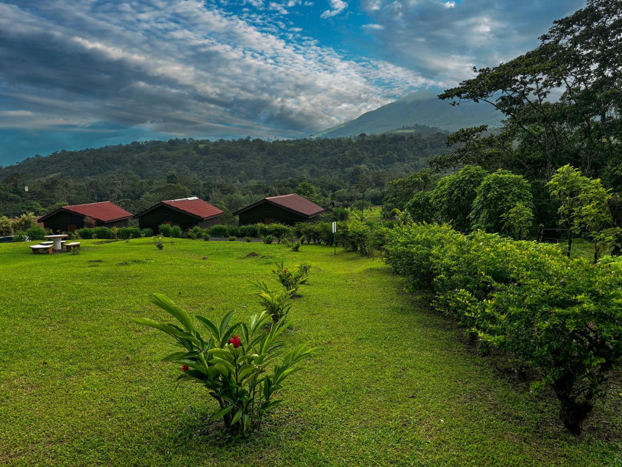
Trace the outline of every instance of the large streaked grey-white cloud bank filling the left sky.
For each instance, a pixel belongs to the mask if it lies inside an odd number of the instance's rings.
[[[3,110],[32,113],[4,113],[0,128],[299,137],[433,84],[266,18],[202,0],[0,0]]]

